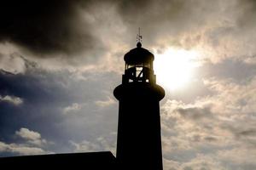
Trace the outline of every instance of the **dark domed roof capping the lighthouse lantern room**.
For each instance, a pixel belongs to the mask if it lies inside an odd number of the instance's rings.
[[[125,54],[125,63],[128,65],[137,65],[154,60],[154,54],[150,53],[148,49],[142,48],[142,43],[137,42],[137,48],[131,49]]]

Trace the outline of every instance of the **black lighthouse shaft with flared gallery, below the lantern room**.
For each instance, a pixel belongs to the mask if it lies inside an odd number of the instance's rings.
[[[160,106],[163,88],[148,83],[122,84],[119,99],[117,161],[122,169],[162,170]]]

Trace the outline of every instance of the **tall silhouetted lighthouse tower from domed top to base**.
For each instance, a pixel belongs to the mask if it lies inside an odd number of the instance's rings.
[[[124,59],[122,84],[113,91],[119,100],[119,169],[162,170],[159,102],[165,91],[155,82],[154,54],[139,41]]]

